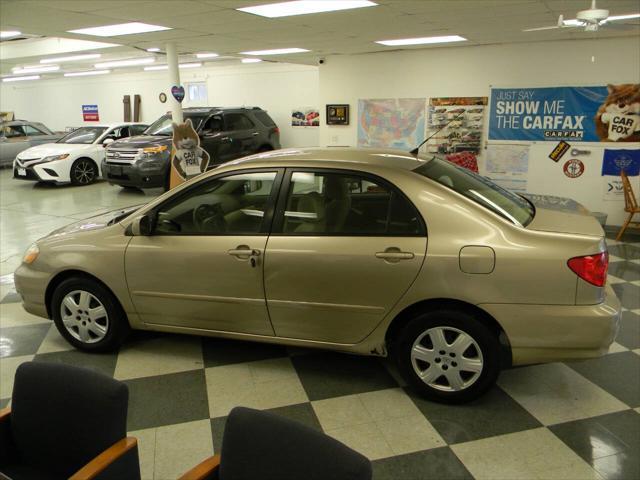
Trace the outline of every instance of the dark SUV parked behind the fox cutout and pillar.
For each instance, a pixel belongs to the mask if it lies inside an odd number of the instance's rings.
[[[210,157],[208,168],[252,153],[280,148],[280,129],[259,107],[185,108],[200,146]],[[114,185],[136,188],[169,188],[171,114],[156,120],[138,137],[114,142],[107,147],[102,175]]]

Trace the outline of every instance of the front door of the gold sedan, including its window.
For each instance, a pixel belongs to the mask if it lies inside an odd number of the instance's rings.
[[[125,269],[143,322],[273,335],[263,265],[275,170],[203,180],[158,206],[152,235],[135,236]]]

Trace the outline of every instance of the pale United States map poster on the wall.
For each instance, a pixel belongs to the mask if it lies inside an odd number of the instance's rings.
[[[358,100],[358,146],[410,151],[425,139],[424,98]]]

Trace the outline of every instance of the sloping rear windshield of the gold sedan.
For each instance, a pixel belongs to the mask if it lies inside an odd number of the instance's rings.
[[[434,157],[414,172],[455,190],[516,225],[526,227],[535,215],[533,205],[526,199],[447,160]]]

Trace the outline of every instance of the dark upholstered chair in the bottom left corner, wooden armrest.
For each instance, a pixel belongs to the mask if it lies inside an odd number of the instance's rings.
[[[23,479],[138,480],[135,438],[126,438],[127,386],[62,364],[18,367],[11,408],[0,411],[0,472]]]

